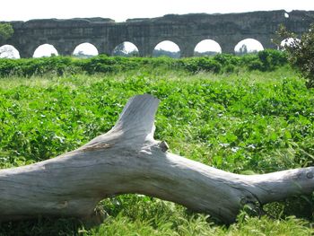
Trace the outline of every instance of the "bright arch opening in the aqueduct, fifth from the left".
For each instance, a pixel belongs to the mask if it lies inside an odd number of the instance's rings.
[[[179,58],[180,56],[179,46],[170,40],[161,41],[153,48],[153,57]]]

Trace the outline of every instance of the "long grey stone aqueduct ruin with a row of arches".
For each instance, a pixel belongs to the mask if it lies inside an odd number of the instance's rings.
[[[279,24],[298,35],[308,31],[314,22],[314,11],[283,10],[252,13],[165,15],[152,19],[131,19],[114,22],[104,18],[71,20],[31,20],[11,22],[14,34],[0,42],[12,45],[21,57],[32,57],[36,48],[51,44],[59,55],[69,56],[81,43],[89,42],[100,54],[111,55],[124,41],[135,44],[142,57],[152,56],[153,48],[170,40],[180,48],[181,57],[192,57],[196,44],[203,39],[214,39],[223,53],[233,53],[242,39],[257,39],[264,48],[275,48],[271,39]]]

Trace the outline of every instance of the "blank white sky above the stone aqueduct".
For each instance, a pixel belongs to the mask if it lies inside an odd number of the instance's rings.
[[[168,13],[240,13],[264,10],[314,10],[313,0],[1,0],[0,21],[74,17],[158,17]]]

